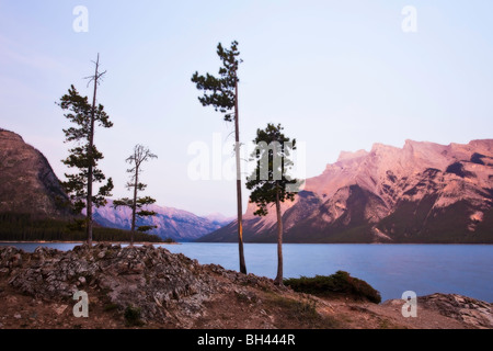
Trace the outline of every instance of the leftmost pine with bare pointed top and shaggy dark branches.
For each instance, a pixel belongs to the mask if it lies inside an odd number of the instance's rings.
[[[85,208],[85,231],[88,237],[88,245],[92,246],[92,207],[104,206],[106,204],[105,197],[111,196],[113,190],[112,179],[107,179],[106,184],[101,186],[98,193],[93,194],[93,183],[101,183],[106,180],[106,177],[98,168],[98,161],[103,159],[103,154],[100,152],[94,145],[94,128],[101,126],[111,128],[113,123],[104,111],[102,104],[96,105],[96,90],[101,77],[105,72],[99,72],[100,56],[95,64],[95,73],[90,78],[90,82],[94,82],[94,92],[92,104],[89,103],[88,97],[81,97],[73,84],[68,90],[68,93],[61,97],[60,102],[57,103],[64,111],[67,111],[65,117],[73,123],[68,129],[64,129],[65,143],[74,141],[76,146],[69,149],[69,157],[62,160],[64,165],[69,168],[77,168],[79,170],[76,174],[65,174],[67,178],[62,185],[69,194],[76,213],[80,213]]]

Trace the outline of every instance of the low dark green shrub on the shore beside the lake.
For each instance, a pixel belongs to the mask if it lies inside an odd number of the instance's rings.
[[[317,296],[345,295],[355,299],[369,301],[375,304],[381,302],[381,296],[367,282],[351,276],[349,273],[337,271],[332,275],[316,275],[314,278],[301,276],[284,280],[284,284],[299,293]]]

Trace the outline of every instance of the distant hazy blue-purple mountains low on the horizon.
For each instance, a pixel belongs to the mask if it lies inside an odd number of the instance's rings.
[[[137,225],[158,226],[157,229],[148,233],[156,234],[163,239],[171,238],[176,241],[192,241],[226,224],[223,220],[219,220],[219,218],[223,217],[217,215],[214,216],[215,219],[213,220],[173,207],[149,205],[146,210],[153,211],[157,215],[150,218],[138,219]],[[93,218],[104,227],[121,229],[130,229],[131,227],[131,210],[129,207],[118,207],[115,210],[111,200],[104,207],[94,210]]]

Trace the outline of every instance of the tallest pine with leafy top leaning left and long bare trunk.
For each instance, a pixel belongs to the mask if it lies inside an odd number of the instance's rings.
[[[246,265],[243,253],[243,210],[241,199],[241,165],[240,165],[240,129],[239,129],[239,111],[238,111],[238,68],[242,63],[238,58],[238,42],[231,43],[231,48],[226,49],[221,43],[217,46],[217,55],[222,61],[219,68],[219,78],[209,73],[198,76],[195,72],[192,77],[198,90],[204,90],[204,97],[199,97],[198,101],[203,106],[214,106],[217,112],[222,113],[226,122],[234,121],[234,152],[237,161],[237,208],[238,208],[238,245],[240,253],[240,272],[246,274]]]

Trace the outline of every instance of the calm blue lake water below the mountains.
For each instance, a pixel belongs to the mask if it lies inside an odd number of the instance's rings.
[[[70,250],[77,244],[2,244],[34,251],[38,246]],[[238,270],[238,244],[163,245],[200,263]],[[249,273],[275,278],[277,246],[246,244]],[[491,245],[310,245],[286,244],[285,278],[330,275],[347,271],[371,284],[382,301],[401,298],[405,291],[419,296],[455,293],[493,302],[493,246]]]

